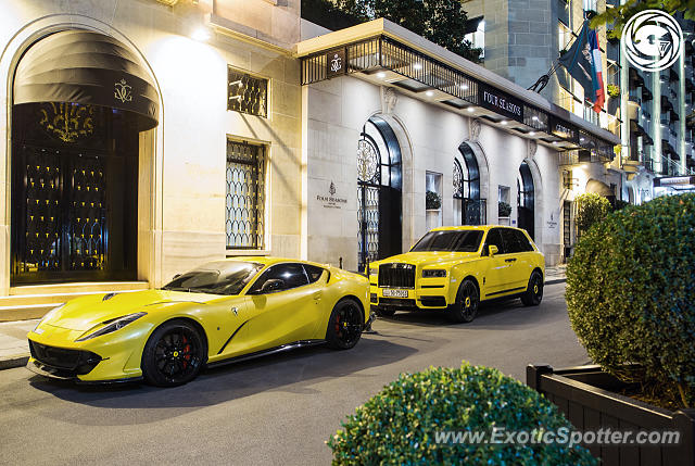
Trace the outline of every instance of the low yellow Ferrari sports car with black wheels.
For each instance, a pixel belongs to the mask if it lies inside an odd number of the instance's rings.
[[[313,344],[350,349],[368,320],[363,276],[304,261],[229,259],[162,289],[54,308],[28,335],[27,368],[81,382],[176,386],[205,365]]]

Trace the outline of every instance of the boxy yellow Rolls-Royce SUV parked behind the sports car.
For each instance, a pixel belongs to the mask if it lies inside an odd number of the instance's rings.
[[[529,235],[503,226],[434,228],[405,253],[369,264],[371,310],[446,310],[452,320],[471,322],[481,301],[543,299],[545,259]]]

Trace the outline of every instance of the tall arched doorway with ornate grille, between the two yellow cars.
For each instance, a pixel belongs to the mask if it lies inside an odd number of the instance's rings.
[[[400,254],[402,248],[401,147],[379,116],[365,123],[357,142],[357,267]]]

